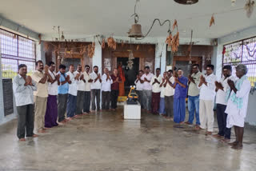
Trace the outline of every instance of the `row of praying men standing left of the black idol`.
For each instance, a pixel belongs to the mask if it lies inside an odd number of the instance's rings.
[[[117,109],[119,82],[122,82],[117,69],[111,75],[107,68],[104,74],[99,74],[98,66],[94,66],[92,73],[88,65],[84,72],[81,65],[77,70],[70,65],[68,72],[66,66],[60,65],[57,74],[55,69],[54,62],[44,66],[42,61],[38,61],[30,77],[25,64],[18,66],[13,89],[20,141],[26,141],[25,136],[38,137],[33,132],[34,122],[38,133],[46,133],[47,128],[65,124],[74,117]]]

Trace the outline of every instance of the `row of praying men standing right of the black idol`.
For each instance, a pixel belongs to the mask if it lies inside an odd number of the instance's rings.
[[[222,78],[218,81],[213,65],[206,66],[206,74],[200,72],[198,64],[192,65],[188,78],[183,76],[181,69],[168,70],[161,76],[159,68],[154,75],[146,66],[144,71],[139,71],[135,81],[138,101],[148,113],[160,114],[178,124],[193,125],[195,116],[195,129],[206,129],[206,135],[211,135],[216,97],[218,133],[213,136],[229,143],[234,126],[236,140],[229,145],[242,149],[250,81],[246,77],[246,66],[238,65],[235,69],[237,78],[232,75],[231,66],[223,66]],[[186,97],[189,118],[185,122]]]

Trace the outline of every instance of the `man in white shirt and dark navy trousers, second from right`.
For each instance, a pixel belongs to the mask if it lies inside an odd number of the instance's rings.
[[[222,68],[223,77],[219,82],[215,82],[216,85],[216,113],[218,121],[218,134],[215,134],[214,137],[224,137],[225,142],[230,141],[231,129],[226,128],[226,90],[229,88],[227,84],[228,80],[234,82],[235,78],[232,75],[232,66],[223,66]]]

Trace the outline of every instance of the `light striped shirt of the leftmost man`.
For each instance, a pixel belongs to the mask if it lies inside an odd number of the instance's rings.
[[[37,90],[36,83],[32,81],[33,86],[25,86],[25,83],[25,79],[22,78],[20,74],[18,74],[13,80],[13,89],[16,106],[34,104],[33,91]]]

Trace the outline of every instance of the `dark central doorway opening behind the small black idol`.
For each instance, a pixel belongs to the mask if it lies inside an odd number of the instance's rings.
[[[122,70],[124,71],[126,82],[125,82],[125,91],[126,95],[129,93],[130,85],[134,85],[136,80],[136,75],[138,74],[139,69],[139,58],[134,58],[134,65],[130,69],[127,66],[128,58],[117,58],[117,64],[122,62]]]

